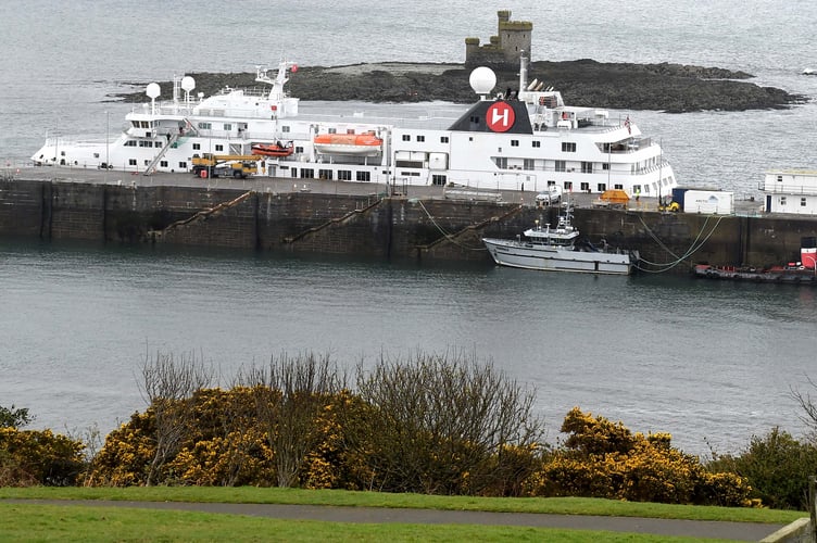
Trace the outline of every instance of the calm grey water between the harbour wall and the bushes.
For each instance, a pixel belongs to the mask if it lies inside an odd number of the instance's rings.
[[[537,389],[555,439],[574,405],[689,452],[797,431],[817,292],[678,278],[415,267],[327,258],[0,243],[0,405],[111,429],[143,409],[147,354],[241,365],[313,350],[467,350]]]

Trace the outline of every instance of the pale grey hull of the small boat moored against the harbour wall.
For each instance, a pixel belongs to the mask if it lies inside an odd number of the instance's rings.
[[[605,275],[630,275],[634,267],[629,253],[579,251],[491,238],[483,238],[482,242],[500,266]]]

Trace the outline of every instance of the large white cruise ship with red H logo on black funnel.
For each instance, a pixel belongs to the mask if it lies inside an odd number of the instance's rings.
[[[523,55],[519,89],[495,93],[495,74],[470,74],[476,103],[458,118],[433,126],[431,118],[369,116],[338,111],[318,116],[299,112],[299,99],[285,85],[297,65],[257,70],[262,89],[194,93],[192,77],[174,80],[173,99],[150,101],[126,116],[126,129],[112,140],[49,138],[32,160],[38,165],[112,168],[150,175],[205,175],[196,159],[214,165],[235,157],[241,167],[222,175],[250,174],[298,180],[329,179],[394,186],[463,186],[483,190],[604,192],[659,195],[677,185],[658,143],[642,135],[629,116],[566,105],[545,83],[528,83]],[[304,104],[305,105],[305,104]],[[334,106],[344,108],[344,102]],[[305,109],[305,108],[304,108]],[[216,171],[209,171],[215,174]]]

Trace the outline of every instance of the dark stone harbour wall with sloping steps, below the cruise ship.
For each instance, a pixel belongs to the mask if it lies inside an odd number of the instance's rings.
[[[389,260],[489,264],[482,237],[514,238],[557,210],[439,195],[328,194],[60,180],[0,181],[0,235],[46,240],[173,243]],[[656,269],[694,263],[768,266],[817,237],[802,216],[716,216],[577,207],[592,243],[636,249]],[[648,264],[646,267],[650,267]]]

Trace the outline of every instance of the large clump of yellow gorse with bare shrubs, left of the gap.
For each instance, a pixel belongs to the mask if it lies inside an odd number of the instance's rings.
[[[536,466],[532,394],[474,359],[381,359],[359,368],[356,394],[311,356],[240,380],[255,384],[154,397],[109,434],[85,481],[518,495]],[[174,445],[156,462],[162,442]]]

